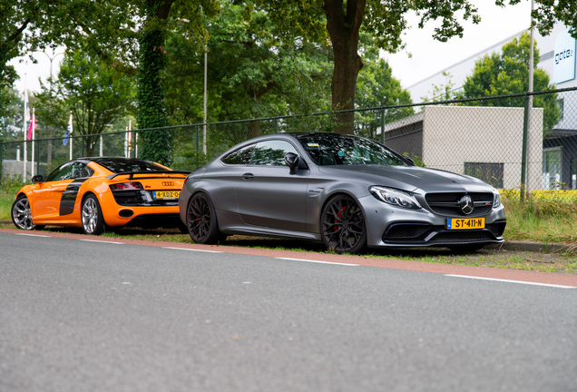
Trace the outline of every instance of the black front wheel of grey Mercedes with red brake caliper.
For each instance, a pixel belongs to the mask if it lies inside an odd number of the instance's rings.
[[[367,249],[365,214],[350,196],[328,201],[320,215],[320,236],[329,251],[358,253]]]

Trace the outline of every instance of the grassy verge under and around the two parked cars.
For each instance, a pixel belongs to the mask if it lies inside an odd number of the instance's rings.
[[[15,192],[21,183],[19,183],[18,179],[10,179],[10,181],[3,181],[1,185],[0,220],[11,220],[10,207],[14,201]],[[504,250],[480,250],[474,253],[458,254],[443,248],[433,248],[375,251],[363,256],[577,274],[577,206],[575,203],[556,200],[554,194],[553,197],[550,195],[546,200],[533,198],[521,203],[518,195],[514,194],[514,192],[507,193],[507,191],[504,191],[502,194],[507,214],[505,239],[565,243],[572,245],[570,250],[549,255]],[[5,225],[4,227],[13,228],[12,225]],[[79,229],[56,227],[49,227],[47,230],[82,233],[82,230]],[[179,230],[120,229],[105,232],[103,236],[119,239],[191,242],[191,238],[186,234],[181,234]],[[325,246],[320,242],[246,236],[231,236],[221,245],[272,250],[327,252]]]

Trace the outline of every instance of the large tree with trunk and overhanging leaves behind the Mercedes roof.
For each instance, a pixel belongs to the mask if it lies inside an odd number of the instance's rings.
[[[283,23],[287,29],[302,32],[304,39],[329,38],[333,47],[334,70],[331,83],[332,106],[334,110],[355,108],[355,87],[357,76],[363,68],[363,60],[358,54],[361,31],[374,37],[377,47],[388,52],[403,48],[402,33],[408,27],[405,16],[415,11],[420,16],[419,27],[430,20],[441,19],[435,28],[435,39],[446,41],[452,36],[463,36],[463,27],[458,15],[463,12],[465,20],[472,18],[478,23],[476,8],[468,0],[326,0],[321,4],[325,15],[306,0],[283,0],[269,2],[271,18]],[[319,26],[326,26],[326,34],[319,32]],[[339,116],[343,125],[337,132],[353,132],[353,113]]]

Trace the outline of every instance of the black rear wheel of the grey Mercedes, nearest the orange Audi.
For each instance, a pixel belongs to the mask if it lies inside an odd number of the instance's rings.
[[[206,193],[195,193],[192,196],[186,209],[186,226],[191,239],[196,243],[216,244],[223,238],[214,205]]]

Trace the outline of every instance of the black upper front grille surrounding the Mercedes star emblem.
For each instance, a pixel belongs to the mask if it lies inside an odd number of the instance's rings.
[[[461,210],[459,201],[465,194],[471,196],[474,201],[474,210],[469,215]],[[447,217],[480,217],[488,214],[493,209],[494,195],[491,192],[448,192],[448,193],[427,193],[425,201],[431,211],[435,214]]]

